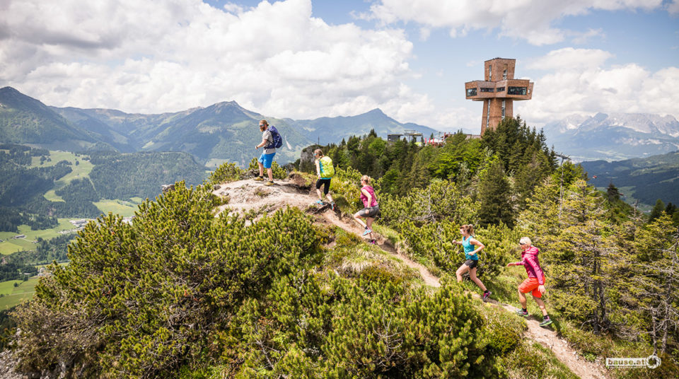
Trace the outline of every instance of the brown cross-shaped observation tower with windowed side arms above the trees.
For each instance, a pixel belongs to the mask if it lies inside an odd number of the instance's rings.
[[[516,59],[489,59],[484,62],[484,80],[465,83],[467,99],[483,102],[481,135],[495,129],[504,117],[513,117],[514,100],[533,97],[533,82],[515,79],[515,66]]]

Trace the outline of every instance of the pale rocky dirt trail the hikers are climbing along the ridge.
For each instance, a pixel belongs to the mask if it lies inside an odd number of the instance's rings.
[[[331,223],[344,231],[361,235],[361,227],[353,221],[350,216],[340,216],[339,212],[331,211],[329,206],[315,206],[313,204],[318,197],[315,191],[308,187],[301,187],[303,184],[296,180],[279,180],[276,185],[265,186],[262,182],[255,182],[253,180],[240,180],[238,182],[231,182],[221,185],[221,188],[214,190],[214,194],[218,196],[228,196],[230,200],[226,206],[220,206],[218,214],[223,212],[228,206],[231,211],[246,212],[253,209],[267,209],[268,211],[275,211],[276,209],[284,208],[285,206],[296,206],[303,211],[311,209],[315,213],[319,221]],[[439,278],[431,274],[422,264],[414,262],[405,254],[402,253],[399,246],[394,246],[390,240],[384,238],[378,233],[376,235],[378,246],[386,252],[398,257],[402,262],[408,266],[416,269],[422,279],[428,286],[440,287]],[[477,293],[472,293],[475,298],[481,298]],[[517,308],[509,304],[499,303],[493,299],[489,299],[487,304],[499,306],[506,311],[514,313]],[[518,317],[518,316],[517,316]],[[526,320],[528,331],[525,337],[535,342],[539,342],[545,348],[550,349],[555,356],[564,363],[573,373],[582,379],[605,379],[608,375],[605,373],[605,368],[597,363],[586,361],[579,356],[577,352],[572,349],[565,339],[560,338],[557,332],[552,329],[540,327],[540,321],[535,320],[530,316]]]

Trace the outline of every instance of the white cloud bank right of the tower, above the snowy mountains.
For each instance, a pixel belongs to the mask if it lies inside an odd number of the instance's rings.
[[[581,64],[576,61],[581,59]],[[612,54],[597,49],[559,49],[536,59],[532,68],[550,70],[535,78],[533,99],[514,104],[514,113],[536,123],[574,113],[656,113],[679,118],[679,68],[656,72],[638,64],[605,66]]]

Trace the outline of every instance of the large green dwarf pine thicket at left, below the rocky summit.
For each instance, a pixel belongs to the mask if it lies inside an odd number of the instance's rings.
[[[246,226],[214,218],[216,204],[208,188],[180,183],[142,203],[130,225],[111,215],[89,223],[70,264],[50,267],[16,313],[21,369],[66,360],[110,377],[167,376],[202,361],[241,303],[316,259],[320,240],[298,209]]]

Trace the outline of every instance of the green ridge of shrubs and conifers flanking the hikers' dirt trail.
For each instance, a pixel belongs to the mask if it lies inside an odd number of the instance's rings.
[[[483,139],[443,146],[388,144],[375,134],[323,146],[337,166],[337,215],[361,209],[368,174],[382,216],[375,230],[441,278],[424,286],[353,233],[313,216],[315,205],[215,216],[229,197],[212,185],[243,180],[236,165],[205,186],[182,183],[147,201],[131,224],[105,216],[71,245],[71,263],[13,317],[16,370],[112,378],[574,378],[533,344],[516,315],[468,296],[459,227],[472,223],[478,274],[492,298],[517,304],[526,277],[518,240],[533,239],[545,270],[555,330],[585,359],[658,354],[650,369],[679,372],[678,226],[652,221],[557,165],[541,132],[506,119]],[[291,180],[308,191],[308,161]],[[251,182],[256,183],[256,182]],[[245,187],[243,183],[235,183]],[[88,187],[86,183],[79,184]],[[254,185],[254,184],[253,184]],[[94,187],[97,184],[94,183]],[[301,194],[302,192],[300,192]],[[268,196],[265,187],[253,194]],[[308,196],[308,195],[307,195]],[[247,197],[245,197],[246,199]],[[325,207],[324,209],[328,209]],[[325,222],[323,221],[325,220]],[[532,300],[531,317],[542,317]],[[62,364],[64,363],[64,364]]]

